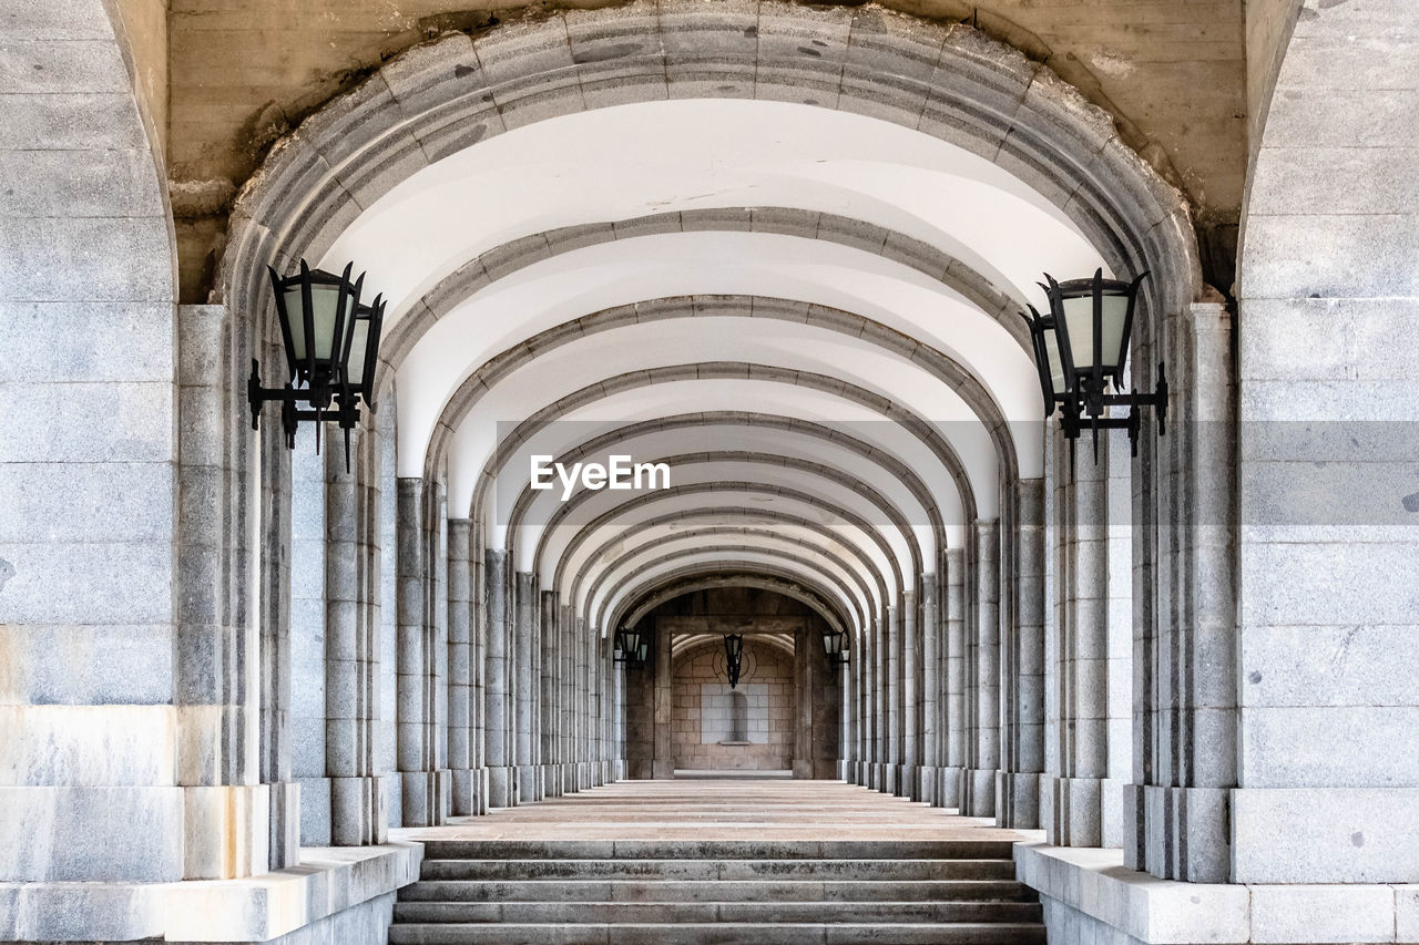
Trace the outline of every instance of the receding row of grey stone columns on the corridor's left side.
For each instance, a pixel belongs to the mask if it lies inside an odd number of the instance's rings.
[[[383,843],[390,826],[561,796],[624,769],[609,643],[508,552],[480,551],[440,482],[382,484],[387,448],[365,426],[349,472],[338,446],[316,455],[307,433],[292,454],[285,725],[305,846]],[[394,514],[385,528],[382,505]]]

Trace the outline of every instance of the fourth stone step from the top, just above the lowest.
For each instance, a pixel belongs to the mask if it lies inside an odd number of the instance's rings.
[[[1037,902],[399,902],[399,922],[1039,922]]]

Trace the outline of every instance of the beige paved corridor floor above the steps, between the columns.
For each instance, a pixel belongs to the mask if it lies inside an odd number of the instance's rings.
[[[566,797],[392,830],[406,840],[1020,840],[836,780],[623,780]]]

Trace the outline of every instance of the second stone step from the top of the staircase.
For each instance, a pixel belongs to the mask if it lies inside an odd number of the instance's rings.
[[[423,880],[1013,880],[1010,860],[424,860]]]

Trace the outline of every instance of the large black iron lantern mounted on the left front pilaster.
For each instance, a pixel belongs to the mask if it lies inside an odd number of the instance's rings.
[[[251,429],[261,419],[261,407],[281,402],[281,429],[287,447],[295,446],[301,420],[315,421],[315,448],[321,448],[321,426],[333,420],[345,430],[345,468],[349,470],[350,430],[359,423],[359,404],[375,410],[375,368],[379,363],[379,339],[385,322],[385,302],[375,297],[360,302],[365,275],[350,281],[355,264],[341,275],[312,270],[301,260],[301,271],[282,280],[271,272],[275,311],[281,324],[289,380],[282,387],[261,386],[261,365],[251,359],[247,400],[251,404]],[[305,409],[301,409],[301,406]]]

